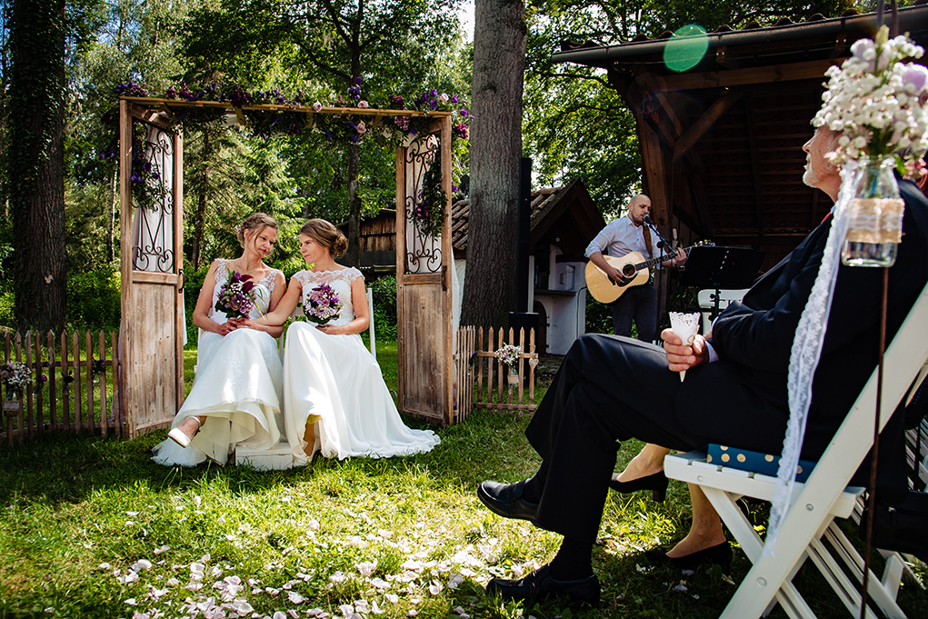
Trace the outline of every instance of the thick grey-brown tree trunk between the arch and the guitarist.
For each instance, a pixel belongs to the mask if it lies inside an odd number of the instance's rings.
[[[525,10],[474,3],[470,218],[461,324],[490,326],[516,309]],[[492,286],[487,282],[493,282]]]

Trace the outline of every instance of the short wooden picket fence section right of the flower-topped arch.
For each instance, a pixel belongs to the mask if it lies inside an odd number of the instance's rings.
[[[458,355],[455,355],[457,380],[456,422],[463,421],[473,408],[489,410],[516,410],[532,412],[535,406],[535,329],[516,333],[509,329],[509,342],[504,342],[505,329],[488,329],[486,346],[483,345],[483,327],[458,329]],[[494,344],[496,342],[496,345]],[[514,367],[508,367],[496,358],[496,351],[506,343],[522,348]]]

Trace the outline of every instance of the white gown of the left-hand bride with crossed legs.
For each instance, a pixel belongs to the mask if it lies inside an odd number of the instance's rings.
[[[267,313],[277,273],[272,270],[254,285],[256,307],[251,310],[252,318]],[[220,259],[213,306],[228,275],[226,261]],[[213,310],[211,317],[219,324],[226,322],[222,312]],[[193,387],[171,427],[194,416],[205,415],[206,421],[187,448],[167,439],[155,447],[152,459],[165,465],[192,467],[209,457],[226,464],[229,453],[238,445],[253,449],[276,445],[283,420],[282,385],[283,368],[273,337],[255,329],[236,329],[225,337],[201,331]]]

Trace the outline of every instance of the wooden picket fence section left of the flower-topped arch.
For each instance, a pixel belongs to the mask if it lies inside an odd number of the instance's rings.
[[[24,339],[19,333],[4,335],[4,363],[24,363],[32,370],[32,383],[23,393],[3,393],[0,445],[60,432],[122,437],[119,331],[110,332],[109,346],[103,331],[94,340],[90,331],[83,337],[77,331],[29,332]]]

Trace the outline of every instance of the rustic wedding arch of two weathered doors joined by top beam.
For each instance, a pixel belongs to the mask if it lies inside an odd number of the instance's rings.
[[[398,407],[441,425],[452,422],[453,331],[451,249],[451,112],[310,108],[148,97],[120,99],[120,223],[122,228],[123,410],[127,435],[170,425],[184,402],[183,204],[184,140],[177,117],[191,109],[218,108],[245,122],[251,110],[370,117],[377,127],[393,117],[426,117],[418,136],[396,149],[396,230],[402,259],[396,261]],[[150,193],[144,208],[133,203],[133,129],[147,132]],[[435,137],[438,139],[436,140]],[[449,197],[437,237],[423,237],[412,217],[425,172],[441,166]],[[135,182],[140,182],[137,178]],[[152,185],[154,184],[154,185]]]

